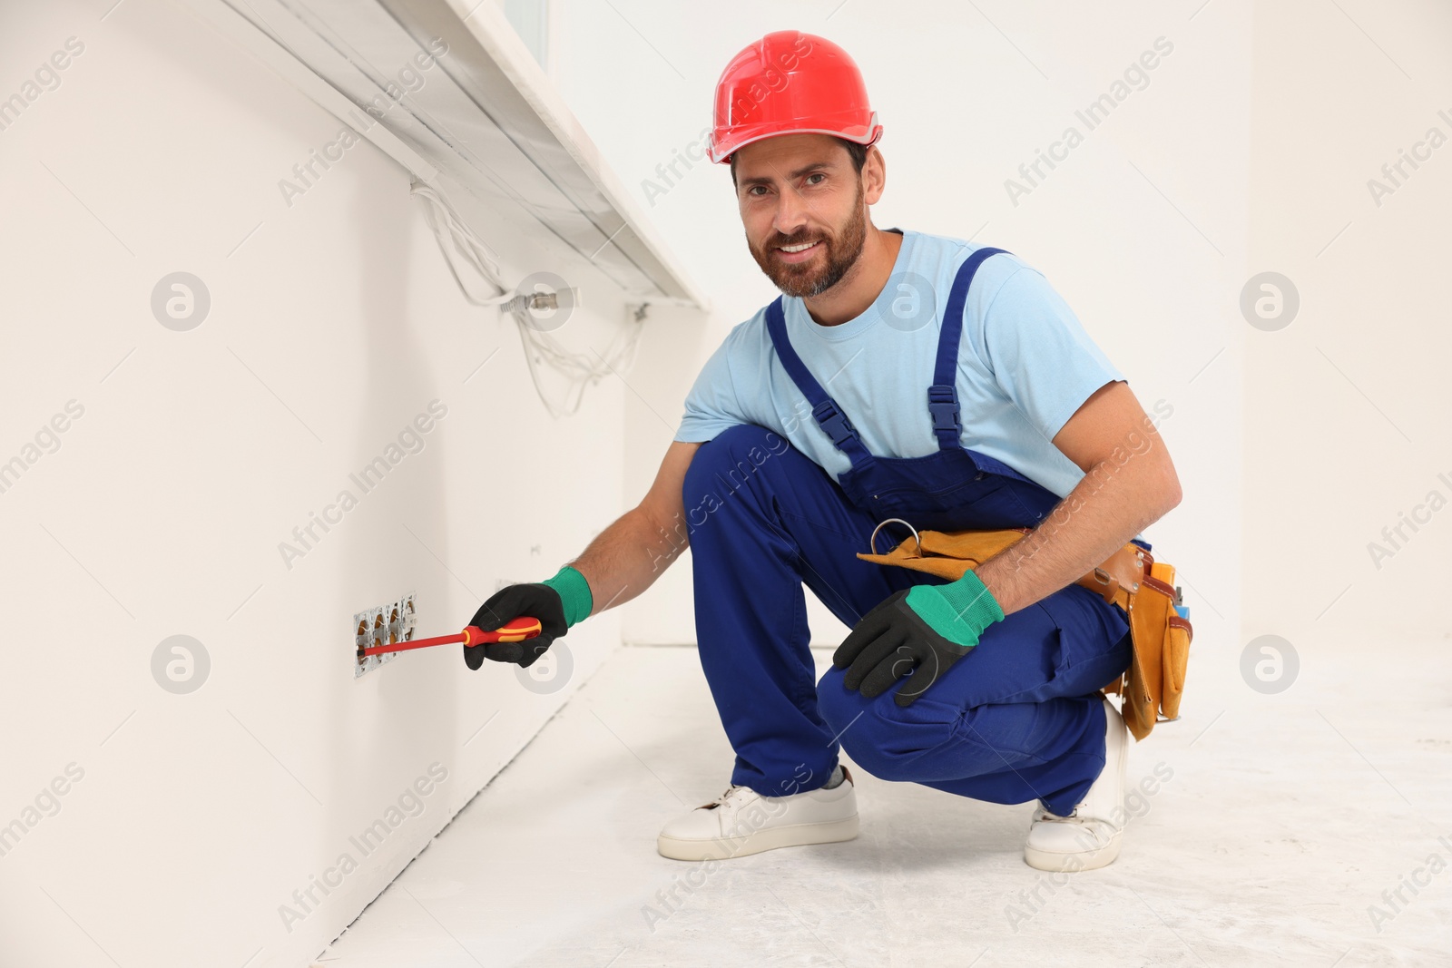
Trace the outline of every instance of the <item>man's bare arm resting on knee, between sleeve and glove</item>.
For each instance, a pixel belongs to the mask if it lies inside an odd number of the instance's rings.
[[[1169,450],[1128,383],[1095,390],[1053,444],[1083,479],[1031,534],[976,569],[1005,615],[1077,581],[1180,502]]]

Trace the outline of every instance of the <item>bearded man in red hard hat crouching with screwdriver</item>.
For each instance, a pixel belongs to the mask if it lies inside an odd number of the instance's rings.
[[[531,663],[690,543],[701,668],[736,766],[714,803],[665,826],[662,855],[855,837],[845,749],[884,779],[1038,800],[1028,864],[1102,866],[1119,852],[1127,736],[1099,689],[1131,643],[1124,611],[1073,582],[1179,504],[1175,467],[1040,273],[873,225],[880,135],[829,41],[770,33],[732,60],[711,160],[730,164],[751,254],[784,296],[706,363],[640,505],[472,623],[534,615],[543,634],[465,657]],[[886,520],[1032,531],[948,582],[860,560]],[[803,585],[852,625],[820,682]]]

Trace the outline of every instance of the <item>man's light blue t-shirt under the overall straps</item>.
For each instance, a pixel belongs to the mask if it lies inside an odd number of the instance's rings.
[[[958,267],[976,248],[905,231],[883,292],[836,327],[815,322],[802,299],[783,298],[793,348],[878,457],[938,450],[928,387],[941,312]],[[1041,273],[1011,254],[984,260],[968,290],[958,344],[964,447],[1064,498],[1083,472],[1050,441],[1095,390],[1124,379]],[[765,308],[733,328],[701,367],[675,440],[707,441],[736,424],[777,431],[833,480],[851,467],[777,358]]]

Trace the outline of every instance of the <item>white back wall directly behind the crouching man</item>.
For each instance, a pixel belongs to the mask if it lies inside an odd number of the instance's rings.
[[[742,3],[729,16],[687,16],[665,0],[619,13],[560,6],[555,71],[566,100],[716,306],[709,332],[666,328],[632,374],[649,406],[626,399],[627,498],[648,486],[700,363],[775,296],[746,251],[725,165],[696,164],[665,194],[645,181],[662,186],[656,165],[710,125],[711,90],[738,49],[774,29],[822,33],[858,61],[886,128],[887,192],[874,222],[1016,253],[1064,293],[1147,411],[1173,406],[1160,432],[1185,502],[1146,536],[1180,569],[1196,668],[1224,668],[1240,634],[1240,551],[1227,536],[1241,515],[1249,4],[1198,15],[1198,4],[1147,1],[977,4],[1002,33],[960,3],[893,13],[864,0]],[[1157,38],[1173,51],[1088,131],[1074,110]],[[1015,205],[1005,180],[1067,125],[1083,144]],[[630,641],[693,641],[688,569],[672,569],[626,614]],[[842,636],[820,608],[813,631],[820,643]]]

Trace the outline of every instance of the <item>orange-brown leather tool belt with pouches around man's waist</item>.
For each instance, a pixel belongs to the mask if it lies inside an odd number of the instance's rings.
[[[883,524],[877,525],[877,531]],[[873,553],[857,557],[960,579],[968,569],[976,569],[1022,540],[1031,528],[913,531],[913,537],[903,540],[887,554],[877,554],[877,531],[873,531],[868,541]],[[1118,692],[1124,698],[1125,726],[1135,740],[1143,740],[1156,723],[1179,718],[1180,695],[1185,691],[1185,666],[1189,662],[1194,630],[1189,618],[1182,618],[1175,608],[1180,601],[1175,586],[1175,566],[1156,562],[1154,556],[1131,541],[1074,583],[1083,585],[1111,605],[1118,605],[1128,617],[1134,659],[1128,672],[1106,684],[1104,691]]]

